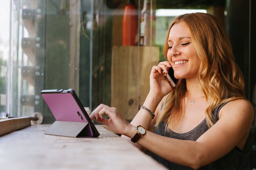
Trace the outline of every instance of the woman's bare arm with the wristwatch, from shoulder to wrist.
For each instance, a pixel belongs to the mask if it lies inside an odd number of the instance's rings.
[[[197,141],[162,137],[147,131],[138,144],[168,161],[197,169],[223,157],[235,146],[243,149],[253,117],[254,110],[248,101],[235,100],[223,106],[218,122]],[[134,134],[130,131],[126,135]]]

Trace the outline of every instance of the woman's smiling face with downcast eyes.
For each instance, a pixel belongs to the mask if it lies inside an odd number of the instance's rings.
[[[173,67],[174,76],[177,79],[197,77],[200,59],[184,22],[172,26],[167,42],[167,59]]]

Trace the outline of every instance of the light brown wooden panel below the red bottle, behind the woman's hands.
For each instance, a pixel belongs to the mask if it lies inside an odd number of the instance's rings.
[[[111,106],[131,120],[148,95],[149,75],[159,62],[159,47],[114,46],[111,66]],[[138,65],[139,64],[139,65]]]

